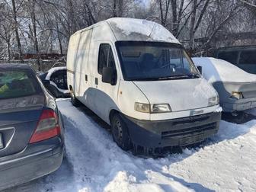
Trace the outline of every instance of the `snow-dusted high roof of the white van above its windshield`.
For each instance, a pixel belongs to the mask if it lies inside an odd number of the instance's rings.
[[[174,35],[161,24],[145,19],[110,18],[93,24],[83,30],[78,30],[75,34],[82,33],[85,30],[106,23],[110,26],[110,30],[112,30],[116,40],[161,41],[181,44]]]

